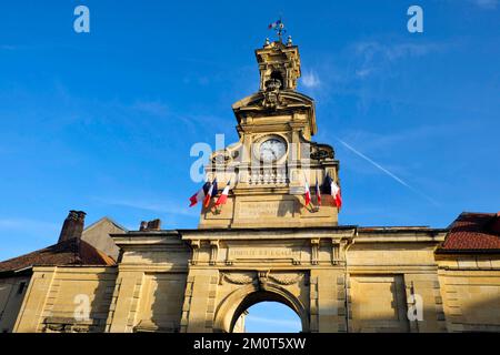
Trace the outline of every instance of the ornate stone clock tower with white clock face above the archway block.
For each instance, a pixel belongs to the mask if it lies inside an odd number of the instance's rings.
[[[317,133],[313,99],[297,91],[300,55],[287,43],[266,41],[256,50],[259,91],[232,105],[239,142],[216,151],[206,166],[219,187],[230,182],[227,204],[202,209],[200,229],[333,226],[331,196],[318,205],[314,185],[327,174],[338,183],[339,162]],[[311,204],[304,205],[306,182]],[[339,184],[339,183],[338,183]]]

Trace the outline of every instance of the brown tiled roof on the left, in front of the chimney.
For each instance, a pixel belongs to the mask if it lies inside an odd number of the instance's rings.
[[[0,263],[0,273],[30,266],[114,265],[114,261],[89,243],[74,237]]]

